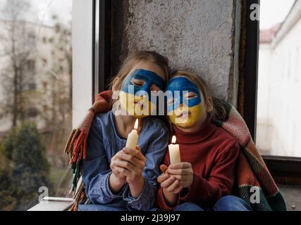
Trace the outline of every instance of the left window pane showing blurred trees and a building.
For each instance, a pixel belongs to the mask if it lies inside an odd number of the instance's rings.
[[[66,197],[72,0],[0,1],[0,210]]]

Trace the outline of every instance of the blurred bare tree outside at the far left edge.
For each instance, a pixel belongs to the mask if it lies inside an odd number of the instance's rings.
[[[28,58],[35,41],[25,23],[25,13],[30,8],[26,0],[7,0],[2,10],[1,20],[1,53],[6,67],[1,70],[1,84],[4,90],[4,113],[11,114],[11,124],[15,127],[18,121],[25,118],[26,97],[23,91],[30,79],[27,69]]]

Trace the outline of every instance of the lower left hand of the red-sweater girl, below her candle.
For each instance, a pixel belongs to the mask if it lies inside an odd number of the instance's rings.
[[[166,165],[161,165],[160,169],[163,174],[158,176],[157,181],[160,183],[161,188],[164,189],[164,192],[167,191],[173,194],[180,193],[180,191],[183,189],[183,186],[180,185],[180,181],[178,181],[176,177],[165,173],[167,170]]]

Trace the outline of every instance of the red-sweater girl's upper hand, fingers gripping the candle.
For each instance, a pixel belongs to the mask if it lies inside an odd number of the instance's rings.
[[[180,185],[183,186],[183,188],[188,188],[192,184],[193,169],[189,162],[179,162],[175,165],[170,165],[166,173],[180,181]]]

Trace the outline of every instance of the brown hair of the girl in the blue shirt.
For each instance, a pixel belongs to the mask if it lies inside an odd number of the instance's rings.
[[[121,67],[115,77],[111,79],[111,82],[109,83],[109,89],[112,89],[113,82],[116,78],[118,78],[118,83],[116,84],[116,89],[120,90],[121,85],[123,82],[123,79],[128,75],[130,70],[134,68],[134,66],[141,61],[152,61],[156,65],[159,65],[165,72],[166,75],[166,82],[168,81],[168,76],[171,72],[169,65],[168,65],[168,59],[164,56],[161,56],[156,51],[138,51],[136,53],[130,54],[123,63],[121,64]]]

